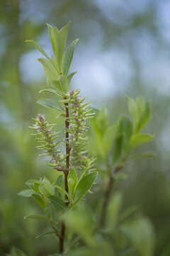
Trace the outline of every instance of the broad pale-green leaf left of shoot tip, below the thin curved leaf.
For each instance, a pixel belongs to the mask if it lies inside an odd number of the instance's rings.
[[[53,80],[57,80],[59,78],[59,73],[57,72],[57,69],[54,67],[54,65],[52,65],[50,60],[47,58],[39,58],[38,61],[40,61],[42,64],[48,80],[52,82]]]

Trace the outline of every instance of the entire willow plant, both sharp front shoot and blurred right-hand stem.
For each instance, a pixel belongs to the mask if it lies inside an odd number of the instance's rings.
[[[65,132],[61,139],[59,132],[55,131],[55,124],[47,122],[44,115],[38,114],[34,118],[35,124],[30,128],[38,142],[38,149],[42,151],[40,156],[47,157],[47,164],[60,175],[54,182],[46,177],[26,182],[28,189],[21,191],[19,195],[34,198],[45,213],[28,215],[26,218],[48,220],[51,228],[43,235],[57,236],[60,255],[128,255],[126,250],[130,246],[137,255],[152,256],[152,225],[145,218],[135,219],[131,225],[129,222],[127,225],[126,217],[130,212],[120,214],[121,196],[112,196],[113,183],[125,176],[123,167],[128,161],[153,156],[146,152],[133,153],[136,146],[153,139],[152,135],[141,132],[150,117],[149,105],[143,97],[135,100],[128,97],[132,118],[123,115],[118,122],[110,125],[105,109],[95,110],[94,117],[90,103],[81,98],[80,91],[70,90],[75,72],[69,73],[69,68],[78,39],[65,50],[69,25],[70,23],[59,30],[47,24],[53,50],[51,57],[47,56],[38,43],[28,41],[45,57],[38,59],[47,78],[47,88],[40,93],[46,92],[55,97],[55,102],[45,98],[39,100],[39,103],[60,112],[64,117]],[[89,139],[88,119],[91,123]],[[95,181],[99,184],[103,181],[101,176],[96,180],[96,159],[105,166],[105,189],[103,197],[98,198],[101,210],[97,210],[94,217],[83,199]],[[98,166],[97,168],[100,170]],[[124,242],[119,243],[119,238]],[[13,248],[11,255],[25,254]]]

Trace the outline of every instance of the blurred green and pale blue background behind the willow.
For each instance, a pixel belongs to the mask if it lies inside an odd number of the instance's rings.
[[[0,255],[14,245],[28,255],[55,252],[55,238],[35,240],[44,223],[23,220],[37,213],[35,203],[17,193],[28,178],[55,178],[38,158],[28,126],[40,112],[56,120],[56,112],[36,104],[45,87],[38,41],[50,55],[45,23],[58,28],[72,21],[69,42],[79,38],[72,87],[94,107],[108,107],[111,122],[127,113],[125,95],[143,95],[152,106],[147,146],[157,158],[134,161],[119,189],[124,207],[140,205],[157,233],[155,255],[170,251],[170,1],[168,0],[1,0],[0,1]],[[58,127],[60,129],[60,122]],[[53,239],[53,240],[52,240]]]

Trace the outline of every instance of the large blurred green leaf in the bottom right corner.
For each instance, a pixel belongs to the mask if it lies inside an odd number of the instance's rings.
[[[147,218],[134,220],[123,225],[121,229],[141,256],[154,255],[154,228]]]

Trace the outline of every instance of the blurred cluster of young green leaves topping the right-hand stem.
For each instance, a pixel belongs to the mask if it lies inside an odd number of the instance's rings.
[[[153,135],[141,131],[150,117],[148,102],[145,102],[143,97],[137,97],[137,99],[128,97],[128,110],[132,119],[122,115],[113,125],[109,125],[106,108],[98,112],[95,119],[91,119],[89,149],[96,156],[100,156],[106,165],[122,168],[132,159],[154,157],[152,152],[133,153],[133,149],[137,146],[154,138]]]

